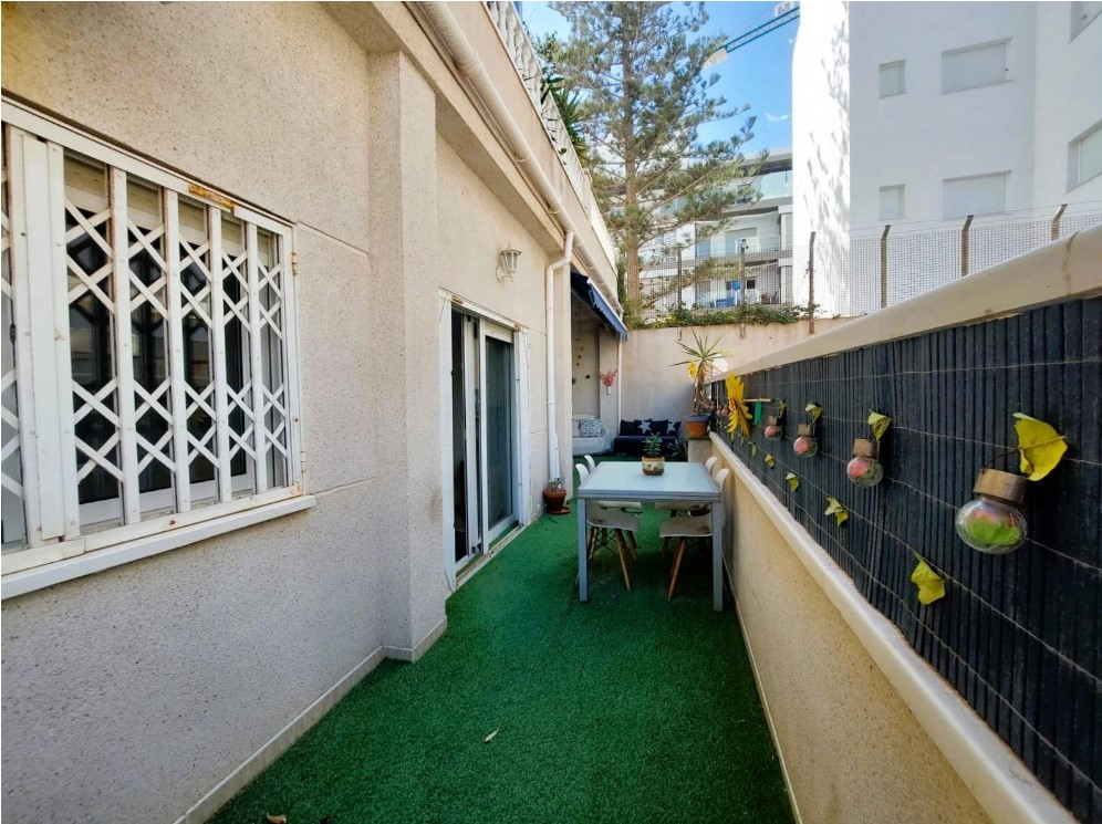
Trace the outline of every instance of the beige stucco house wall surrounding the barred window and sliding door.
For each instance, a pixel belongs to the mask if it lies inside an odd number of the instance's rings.
[[[485,10],[456,13],[487,63],[511,69]],[[173,821],[299,719],[293,741],[328,691],[445,628],[441,290],[523,333],[539,500],[543,272],[561,234],[402,4],[4,4],[2,56],[6,92],[294,228],[316,504],[3,602],[4,821]],[[519,79],[495,76],[523,104]],[[513,111],[541,150],[534,113]],[[600,264],[594,232],[580,234]],[[507,244],[523,254],[499,283]],[[569,279],[555,279],[552,426],[569,467]]]

